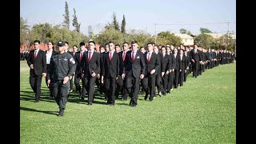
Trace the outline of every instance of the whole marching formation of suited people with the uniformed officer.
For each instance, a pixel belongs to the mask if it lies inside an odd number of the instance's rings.
[[[79,51],[77,46],[67,51],[68,42],[59,41],[58,52],[53,42],[48,42],[46,51],[39,50],[39,44],[40,41],[34,41],[34,50],[30,50],[26,58],[34,102],[40,100],[42,77],[45,77],[50,98],[57,102],[60,116],[73,92],[73,79],[78,98],[88,98],[88,105],[94,103],[96,84],[106,104],[114,106],[116,99],[126,101],[129,95],[129,106],[134,107],[138,105],[138,94],[145,94],[144,99],[152,102],[157,95],[161,97],[182,87],[188,74],[193,73],[197,78],[204,71],[235,59],[229,50],[206,50],[196,44],[174,47],[148,43],[139,48],[136,41],[131,42],[130,47],[128,42],[119,46],[110,41],[96,51],[95,42],[90,41],[88,47],[80,42]]]

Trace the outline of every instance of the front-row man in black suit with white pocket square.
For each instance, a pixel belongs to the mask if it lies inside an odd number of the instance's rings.
[[[137,106],[139,82],[144,78],[145,60],[138,50],[138,42],[131,42],[132,50],[126,53],[126,59],[122,67],[122,78],[126,78],[126,88],[130,95],[130,106]]]

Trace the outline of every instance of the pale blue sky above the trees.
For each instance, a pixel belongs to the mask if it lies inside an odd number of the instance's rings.
[[[37,4],[35,4],[35,2]],[[143,30],[149,34],[161,31],[179,33],[180,29],[200,34],[200,27],[214,33],[236,34],[235,0],[21,0],[20,16],[27,24],[62,24],[65,2],[70,12],[70,30],[74,30],[72,20],[74,10],[81,23],[82,34],[88,34],[92,26],[94,34],[104,30],[116,14],[121,27],[123,15],[126,18],[126,32]]]

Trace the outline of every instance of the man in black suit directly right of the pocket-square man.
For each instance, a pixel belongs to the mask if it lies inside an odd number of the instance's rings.
[[[150,102],[153,101],[154,98],[154,89],[155,89],[155,79],[158,74],[158,69],[160,69],[160,60],[158,54],[153,52],[153,44],[147,44],[147,52],[144,54],[145,59],[145,77],[142,79],[142,85],[145,90],[145,100],[148,98],[148,94],[150,94]]]

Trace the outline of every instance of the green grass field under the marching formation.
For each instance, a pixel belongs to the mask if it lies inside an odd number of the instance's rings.
[[[50,100],[42,78],[41,101],[34,103],[29,67],[20,62],[20,141],[35,143],[235,143],[236,64],[188,75],[184,86],[138,106],[116,100],[108,106],[95,94],[94,105],[70,94],[64,117]]]

